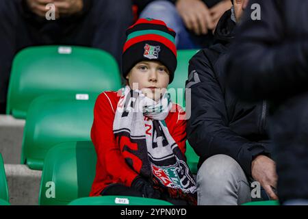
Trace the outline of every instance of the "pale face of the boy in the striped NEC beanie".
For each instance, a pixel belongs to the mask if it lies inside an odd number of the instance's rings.
[[[166,92],[169,72],[166,66],[160,62],[142,61],[131,68],[126,79],[128,79],[131,89],[141,90],[150,99],[158,101]]]

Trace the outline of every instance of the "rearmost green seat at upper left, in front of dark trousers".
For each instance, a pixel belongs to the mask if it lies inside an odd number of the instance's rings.
[[[26,118],[29,104],[42,94],[99,94],[120,87],[118,64],[105,51],[87,47],[29,47],[14,57],[6,114]]]

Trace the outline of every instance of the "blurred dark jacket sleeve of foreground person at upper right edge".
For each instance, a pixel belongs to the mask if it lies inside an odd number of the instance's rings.
[[[246,101],[279,99],[307,88],[308,38],[287,37],[285,0],[279,1],[250,1],[229,52],[228,81]],[[260,5],[261,20],[251,18],[253,3]]]

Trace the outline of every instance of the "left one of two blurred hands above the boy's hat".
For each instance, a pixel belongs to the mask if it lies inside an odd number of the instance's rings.
[[[214,29],[211,14],[203,1],[178,0],[176,7],[185,26],[195,34],[207,34],[208,29]]]

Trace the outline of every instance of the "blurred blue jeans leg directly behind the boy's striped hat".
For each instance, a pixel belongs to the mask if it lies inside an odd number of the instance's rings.
[[[175,5],[166,0],[149,3],[141,12],[140,18],[153,18],[164,21],[168,27],[177,33],[175,37],[177,49],[202,49],[211,44],[213,40],[211,34],[196,36],[188,31]]]

